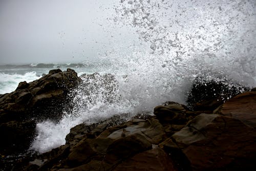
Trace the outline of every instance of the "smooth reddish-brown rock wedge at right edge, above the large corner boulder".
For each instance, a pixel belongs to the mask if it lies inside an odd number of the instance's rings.
[[[233,97],[215,113],[237,118],[256,128],[256,92],[246,92]]]

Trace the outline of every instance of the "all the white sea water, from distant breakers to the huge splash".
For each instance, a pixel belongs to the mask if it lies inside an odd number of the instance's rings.
[[[123,113],[152,113],[154,106],[170,100],[185,104],[186,93],[198,76],[209,80],[221,76],[256,87],[254,0],[121,0],[113,8],[116,12],[111,17],[116,25],[112,30],[129,25],[141,42],[131,45],[130,52],[99,56],[102,60],[98,62],[74,66],[30,64],[0,68],[0,94],[15,90],[19,81],[38,79],[58,67],[72,68],[78,75],[111,73],[118,83],[111,102],[105,99],[108,90],[101,79],[91,80],[89,88],[96,91],[90,94],[84,93],[84,86],[74,90],[74,110],[66,111],[58,123],[37,123],[38,135],[31,149],[43,153],[65,144],[70,128],[82,122],[95,123]],[[109,86],[115,87],[115,81]]]

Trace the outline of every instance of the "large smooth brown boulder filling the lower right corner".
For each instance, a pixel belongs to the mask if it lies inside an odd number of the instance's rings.
[[[193,170],[253,170],[256,132],[238,119],[201,114],[172,139]]]

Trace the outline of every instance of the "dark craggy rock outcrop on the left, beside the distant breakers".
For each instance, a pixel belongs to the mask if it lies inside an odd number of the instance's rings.
[[[69,106],[69,92],[80,82],[74,70],[51,70],[38,80],[20,82],[17,89],[0,97],[1,155],[26,151],[35,135],[36,121],[58,120]]]

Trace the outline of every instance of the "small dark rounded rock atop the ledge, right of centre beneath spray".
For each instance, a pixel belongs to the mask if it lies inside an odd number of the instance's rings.
[[[154,114],[161,123],[184,124],[187,122],[184,106],[176,102],[156,106]]]

